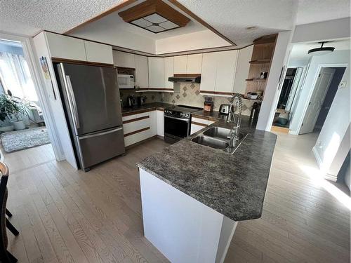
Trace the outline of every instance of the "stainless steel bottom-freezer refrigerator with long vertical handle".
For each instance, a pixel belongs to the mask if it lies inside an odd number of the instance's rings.
[[[55,73],[80,168],[124,154],[116,69],[60,63]]]

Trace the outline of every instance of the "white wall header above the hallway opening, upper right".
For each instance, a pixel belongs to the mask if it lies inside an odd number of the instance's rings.
[[[341,39],[350,36],[350,18],[340,18],[295,27],[292,43]]]

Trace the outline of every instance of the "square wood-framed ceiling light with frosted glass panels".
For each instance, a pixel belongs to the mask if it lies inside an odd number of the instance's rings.
[[[185,27],[190,19],[161,0],[147,0],[118,13],[125,22],[154,34]]]

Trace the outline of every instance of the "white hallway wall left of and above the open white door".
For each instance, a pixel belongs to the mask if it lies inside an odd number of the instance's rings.
[[[293,114],[293,119],[291,119],[290,130],[292,134],[298,134],[303,116],[307,110],[307,104],[310,102],[310,97],[312,95],[314,83],[317,79],[318,67],[319,65],[331,65],[339,63],[349,63],[350,62],[350,50],[336,50],[333,53],[327,55],[315,55],[311,58],[309,67],[307,69],[307,74],[305,76],[305,81],[300,90],[300,97],[296,104],[296,111]]]

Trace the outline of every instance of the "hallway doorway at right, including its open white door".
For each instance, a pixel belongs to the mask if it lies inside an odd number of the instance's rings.
[[[299,134],[319,132],[346,67],[321,67]]]

